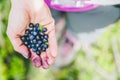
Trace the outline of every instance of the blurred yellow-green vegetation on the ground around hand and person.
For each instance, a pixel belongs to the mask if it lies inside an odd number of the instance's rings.
[[[35,68],[13,50],[6,35],[10,0],[0,0],[0,80],[120,80],[120,20],[63,68]]]

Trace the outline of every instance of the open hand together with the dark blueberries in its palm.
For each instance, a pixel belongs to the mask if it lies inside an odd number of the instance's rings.
[[[35,67],[43,67],[45,69],[49,68],[50,65],[54,63],[57,56],[57,43],[54,19],[51,16],[48,6],[44,4],[44,0],[11,0],[11,2],[12,6],[8,19],[7,35],[13,45],[14,50],[23,55],[26,59],[29,58]],[[37,9],[34,3],[39,4]],[[42,44],[41,39],[46,39],[47,36],[45,37],[43,36],[43,33],[40,33],[42,36],[35,37],[38,35],[36,34],[36,31],[39,30],[39,26],[41,25],[36,24],[36,28],[33,23],[28,24],[29,22],[43,24],[44,27],[48,29],[47,32],[45,32],[47,33],[46,35],[49,35],[49,47],[46,51],[44,51],[45,49],[42,47],[38,46]],[[26,30],[27,25],[29,25],[28,30]],[[44,32],[46,30],[41,31]],[[36,47],[38,47],[38,51],[35,50]],[[32,48],[34,48],[33,50],[36,52],[33,52]],[[43,51],[40,53],[40,50]]]

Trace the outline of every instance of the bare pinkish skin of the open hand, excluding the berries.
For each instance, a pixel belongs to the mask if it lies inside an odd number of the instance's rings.
[[[7,35],[14,49],[25,58],[30,58],[34,66],[49,68],[57,56],[54,19],[51,17],[49,8],[43,0],[11,0],[11,4]],[[48,29],[49,48],[40,56],[32,50],[28,50],[20,40],[20,36],[24,35],[24,31],[30,22],[42,24]]]

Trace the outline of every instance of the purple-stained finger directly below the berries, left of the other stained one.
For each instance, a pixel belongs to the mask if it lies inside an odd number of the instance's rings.
[[[30,60],[33,62],[35,67],[40,67],[41,66],[41,58],[32,51],[32,49],[30,49],[31,52],[31,56],[30,56]]]

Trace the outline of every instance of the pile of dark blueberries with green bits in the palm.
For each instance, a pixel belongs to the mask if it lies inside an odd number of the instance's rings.
[[[48,48],[48,35],[45,34],[47,28],[40,24],[29,24],[29,29],[25,30],[25,35],[21,36],[21,40],[28,49],[32,49],[37,55]]]

